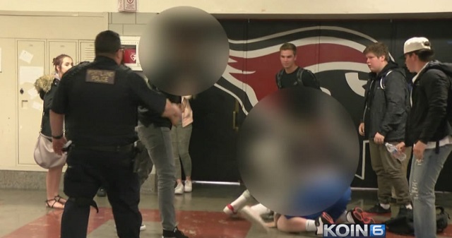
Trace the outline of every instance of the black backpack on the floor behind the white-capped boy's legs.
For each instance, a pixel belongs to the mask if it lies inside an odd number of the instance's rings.
[[[451,219],[441,206],[436,206],[436,233],[441,233],[446,229],[448,220]],[[405,215],[399,215],[396,218],[391,218],[384,222],[386,225],[386,231],[401,235],[414,235],[415,227],[413,224],[412,210],[409,209]]]

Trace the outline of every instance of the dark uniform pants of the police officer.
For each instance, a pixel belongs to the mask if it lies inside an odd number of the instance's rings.
[[[118,237],[140,237],[140,184],[133,173],[132,156],[131,152],[71,149],[64,174],[64,193],[69,199],[61,219],[61,238],[86,237],[90,203],[101,184],[107,190]]]

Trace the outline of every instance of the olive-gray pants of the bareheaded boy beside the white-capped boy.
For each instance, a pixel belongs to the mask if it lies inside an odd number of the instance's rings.
[[[379,187],[379,202],[390,204],[392,195],[391,188],[394,187],[397,197],[396,203],[398,205],[410,204],[411,198],[405,165],[399,160],[391,157],[391,154],[384,145],[377,145],[371,140],[369,141],[369,149],[372,169],[374,169],[376,173]],[[411,148],[406,148],[405,153],[409,153],[410,151]],[[407,160],[410,157],[408,155]]]

